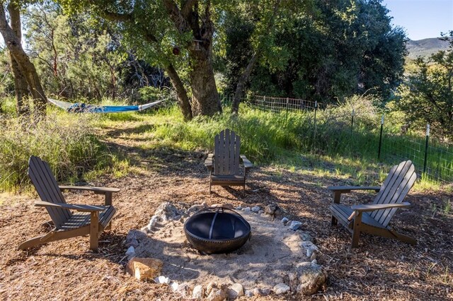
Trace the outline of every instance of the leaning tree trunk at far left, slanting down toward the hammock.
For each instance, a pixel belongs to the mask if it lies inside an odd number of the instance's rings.
[[[8,47],[11,56],[18,64],[18,69],[23,73],[23,76],[25,76],[25,81],[28,83],[28,88],[30,89],[30,93],[35,102],[35,109],[38,113],[45,114],[47,98],[42,89],[40,78],[38,77],[38,73],[36,73],[35,66],[23,50],[21,40],[18,39],[14,31],[8,25],[3,5],[0,5],[0,33],[4,38],[6,47]]]

